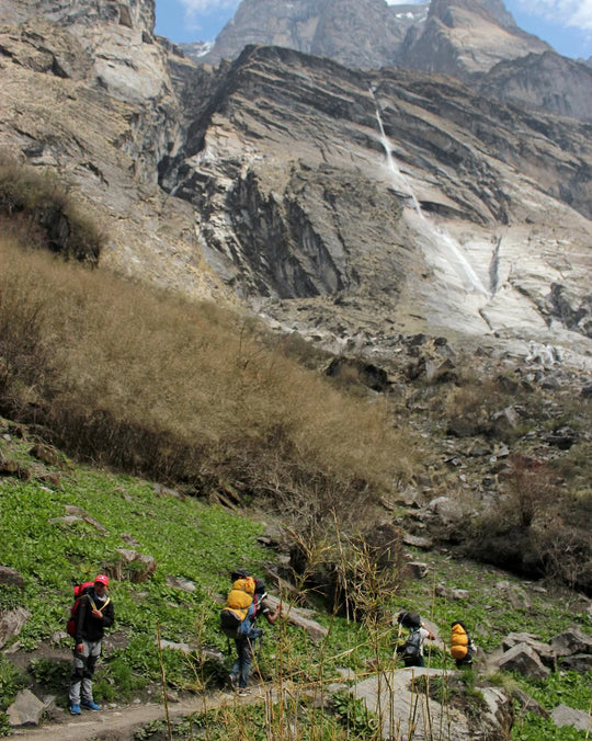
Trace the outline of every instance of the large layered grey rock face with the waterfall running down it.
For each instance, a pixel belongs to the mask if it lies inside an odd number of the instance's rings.
[[[449,79],[251,47],[161,182],[195,205],[214,270],[289,327],[371,332],[375,347],[394,322],[579,344],[591,162],[585,124]]]

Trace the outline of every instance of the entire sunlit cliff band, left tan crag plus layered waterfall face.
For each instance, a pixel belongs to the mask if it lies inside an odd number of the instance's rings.
[[[2,7],[0,147],[76,189],[104,266],[337,351],[426,332],[590,363],[589,124],[285,48],[197,67],[151,2],[83,7]]]

